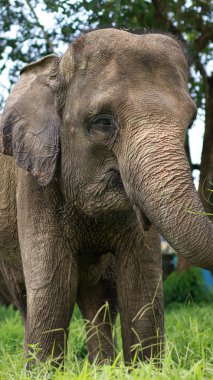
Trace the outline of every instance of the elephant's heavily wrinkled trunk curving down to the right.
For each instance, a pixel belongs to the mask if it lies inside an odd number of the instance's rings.
[[[120,160],[124,187],[141,215],[193,265],[213,269],[213,225],[195,190],[183,135],[139,128]],[[127,148],[127,149],[126,149]],[[128,152],[125,157],[125,152]]]

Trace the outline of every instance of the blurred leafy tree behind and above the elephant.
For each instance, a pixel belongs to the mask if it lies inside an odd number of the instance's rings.
[[[192,56],[190,92],[197,106],[205,112],[201,164],[192,164],[188,138],[186,152],[192,170],[201,170],[199,191],[206,210],[212,212],[211,17],[209,0],[1,0],[0,68],[2,71],[8,69],[8,61],[12,60],[9,77],[13,83],[24,64],[52,52],[60,53],[63,43],[70,43],[81,32],[95,27],[113,26],[139,33],[161,30],[175,34]],[[3,103],[3,98],[0,101]]]

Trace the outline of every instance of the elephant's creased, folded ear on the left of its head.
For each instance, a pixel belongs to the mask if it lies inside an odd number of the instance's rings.
[[[8,97],[1,117],[0,153],[14,156],[21,168],[47,185],[59,156],[60,118],[56,105],[56,68],[49,55],[26,66]]]

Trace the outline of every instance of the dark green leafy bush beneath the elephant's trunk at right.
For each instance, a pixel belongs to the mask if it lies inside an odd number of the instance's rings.
[[[181,273],[172,272],[164,281],[164,304],[183,302],[210,302],[213,294],[204,283],[199,268],[190,268]]]

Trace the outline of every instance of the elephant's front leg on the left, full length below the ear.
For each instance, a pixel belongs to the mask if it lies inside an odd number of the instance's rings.
[[[54,186],[44,191],[23,174],[17,210],[27,291],[26,353],[35,348],[39,360],[52,357],[53,362],[61,362],[78,279],[71,238],[61,223],[60,193]]]

